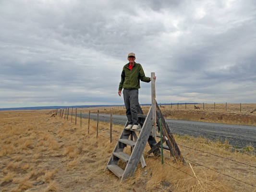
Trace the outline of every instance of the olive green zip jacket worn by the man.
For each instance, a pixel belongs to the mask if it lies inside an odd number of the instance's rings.
[[[135,63],[132,70],[129,69],[129,63],[123,66],[121,74],[121,82],[119,84],[119,91],[122,89],[139,89],[140,80],[143,82],[150,82],[150,77],[146,77],[141,64]]]

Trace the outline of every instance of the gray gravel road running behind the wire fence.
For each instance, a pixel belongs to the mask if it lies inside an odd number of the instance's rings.
[[[83,118],[88,119],[88,114],[82,114]],[[90,119],[97,120],[97,114],[91,113]],[[113,115],[113,124],[125,125],[126,116]],[[99,114],[99,121],[110,121],[110,115]],[[228,138],[229,144],[232,146],[238,146],[238,148],[246,147],[246,145],[252,144],[256,148],[256,127],[255,126],[243,126],[243,125],[231,125],[221,123],[207,123],[188,120],[169,120],[166,122],[171,129],[172,133],[179,135],[189,136],[202,136],[210,140],[216,140],[219,138],[221,141],[225,141]]]

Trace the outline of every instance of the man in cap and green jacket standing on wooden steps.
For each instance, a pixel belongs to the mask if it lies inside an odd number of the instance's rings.
[[[151,78],[146,77],[141,64],[135,62],[136,57],[134,53],[129,53],[127,59],[129,63],[122,68],[118,95],[121,96],[123,89],[123,99],[128,119],[128,125],[125,129],[136,130],[139,127],[137,112],[140,80],[149,83]],[[153,79],[156,80],[156,77],[153,77]]]

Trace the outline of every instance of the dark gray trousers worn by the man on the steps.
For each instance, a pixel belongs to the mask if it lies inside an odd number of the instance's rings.
[[[138,89],[123,89],[123,99],[126,108],[126,116],[128,124],[138,124],[138,105],[139,105],[139,90]]]

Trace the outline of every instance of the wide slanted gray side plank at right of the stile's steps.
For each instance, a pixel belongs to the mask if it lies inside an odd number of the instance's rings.
[[[148,112],[143,128],[134,146],[133,153],[131,154],[130,160],[127,163],[126,168],[123,172],[121,182],[122,180],[125,180],[127,177],[134,176],[134,173],[141,159],[142,153],[145,149],[145,146],[151,131],[152,131],[152,107]]]

